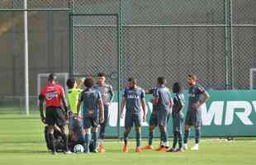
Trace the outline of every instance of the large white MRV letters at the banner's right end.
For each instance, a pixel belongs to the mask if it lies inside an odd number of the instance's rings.
[[[211,106],[201,106],[202,125],[232,125],[235,116],[244,125],[254,125],[249,119],[252,111],[256,111],[256,101],[212,101]]]

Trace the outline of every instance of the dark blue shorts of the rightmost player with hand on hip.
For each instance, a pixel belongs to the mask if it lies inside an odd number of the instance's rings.
[[[201,109],[189,108],[186,115],[185,125],[201,126]]]

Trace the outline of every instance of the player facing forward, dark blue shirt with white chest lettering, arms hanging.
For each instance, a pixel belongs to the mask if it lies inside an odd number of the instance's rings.
[[[128,88],[123,93],[121,101],[121,118],[124,118],[124,108],[126,106],[126,118],[125,118],[125,132],[124,132],[124,146],[123,152],[128,152],[128,135],[131,127],[135,125],[136,132],[136,153],[141,153],[141,116],[140,116],[140,105],[143,110],[143,121],[145,121],[145,92],[143,89],[138,87],[138,82],[134,78],[128,79]]]

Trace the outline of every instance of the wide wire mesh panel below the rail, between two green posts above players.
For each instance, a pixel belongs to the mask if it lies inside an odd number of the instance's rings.
[[[224,32],[222,27],[124,27],[124,78],[138,78],[140,86],[150,87],[164,76],[170,86],[197,73],[206,87],[222,89]]]

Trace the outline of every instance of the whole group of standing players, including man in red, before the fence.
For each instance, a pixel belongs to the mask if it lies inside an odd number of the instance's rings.
[[[84,153],[89,153],[89,145],[92,141],[92,152],[104,152],[103,140],[105,139],[105,130],[107,119],[109,117],[109,107],[114,97],[111,85],[106,83],[106,74],[98,73],[98,81],[95,83],[93,78],[83,80],[84,89],[78,89],[76,81],[71,78],[67,81],[69,91],[68,99],[64,94],[64,89],[57,83],[57,76],[52,73],[49,76],[49,83],[41,90],[40,100],[40,118],[43,123],[49,126],[48,137],[53,146],[52,153],[56,154],[55,149],[55,126],[58,125],[61,130],[61,136],[64,139],[64,153],[69,151],[69,140],[65,134],[66,120],[69,120],[70,112],[76,116],[76,119],[82,120],[83,127],[83,148]],[[135,125],[136,153],[141,153],[143,149],[153,149],[154,129],[159,126],[161,152],[182,152],[187,149],[187,139],[191,126],[195,127],[196,144],[193,150],[198,150],[198,144],[201,136],[201,105],[209,98],[208,93],[197,84],[196,75],[187,75],[188,89],[188,109],[185,120],[185,133],[183,130],[183,107],[185,99],[183,96],[183,87],[179,82],[173,83],[173,99],[168,87],[165,86],[166,79],[159,77],[157,85],[149,90],[139,87],[135,78],[129,78],[124,89],[121,101],[121,118],[125,120],[125,130],[123,135],[123,152],[127,153],[128,136],[131,128]],[[153,111],[149,120],[149,144],[141,147],[141,124],[146,120],[145,93],[152,94]],[[45,114],[44,114],[45,102]],[[142,107],[142,113],[141,113]],[[64,108],[64,113],[63,113]],[[142,115],[142,116],[141,116]],[[173,118],[173,146],[168,144],[168,119]],[[72,123],[69,120],[69,124]],[[99,131],[99,138],[97,138]],[[71,132],[71,134],[70,134]],[[72,131],[69,130],[69,135]],[[99,142],[99,143],[97,143]],[[178,144],[178,148],[176,147]]]

